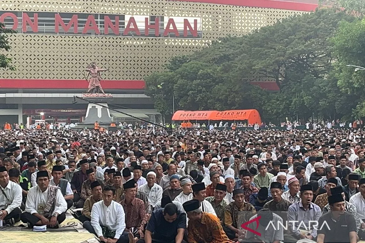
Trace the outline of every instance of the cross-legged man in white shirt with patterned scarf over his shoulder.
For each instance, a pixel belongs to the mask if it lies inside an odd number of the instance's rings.
[[[57,186],[49,185],[47,171],[38,171],[37,186],[29,189],[24,213],[20,216],[28,228],[47,225],[58,228],[65,219],[67,203]]]

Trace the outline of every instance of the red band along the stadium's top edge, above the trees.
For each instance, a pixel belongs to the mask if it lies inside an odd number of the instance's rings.
[[[196,2],[196,3],[212,3],[222,5],[235,5],[244,7],[257,7],[257,8],[277,8],[296,11],[315,11],[318,4],[291,2],[291,1],[277,1],[277,0],[170,0],[170,1],[184,1],[184,2]]]

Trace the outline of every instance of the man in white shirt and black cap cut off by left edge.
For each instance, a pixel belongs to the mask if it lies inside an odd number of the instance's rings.
[[[9,181],[8,171],[0,167],[0,220],[3,224],[15,224],[20,221],[20,205],[22,204],[22,188]]]

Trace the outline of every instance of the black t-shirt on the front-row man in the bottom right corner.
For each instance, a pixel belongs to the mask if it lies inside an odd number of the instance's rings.
[[[356,221],[354,216],[345,212],[339,217],[337,222],[334,222],[331,214],[331,212],[328,212],[319,218],[318,235],[324,234],[324,243],[350,242],[349,233],[353,231],[356,232]],[[328,227],[324,224],[324,221],[326,221]]]

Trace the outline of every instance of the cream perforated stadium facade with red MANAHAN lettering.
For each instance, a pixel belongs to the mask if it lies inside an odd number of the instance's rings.
[[[79,122],[87,104],[73,103],[88,87],[92,61],[113,104],[158,121],[143,78],[226,35],[242,36],[295,14],[314,11],[316,0],[2,0],[0,22],[10,36],[15,71],[1,71],[0,124]],[[257,80],[275,90],[270,80]],[[115,115],[117,120],[131,120]],[[156,120],[157,119],[157,120]]]

